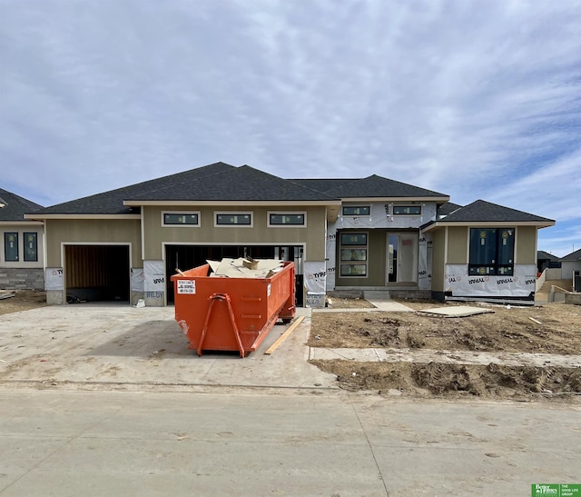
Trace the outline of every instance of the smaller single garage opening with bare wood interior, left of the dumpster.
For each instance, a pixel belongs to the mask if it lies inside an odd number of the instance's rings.
[[[67,302],[129,303],[128,245],[65,245]]]

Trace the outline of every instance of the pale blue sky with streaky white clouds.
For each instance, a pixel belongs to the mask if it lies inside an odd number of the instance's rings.
[[[0,0],[0,187],[379,174],[581,248],[580,0]]]

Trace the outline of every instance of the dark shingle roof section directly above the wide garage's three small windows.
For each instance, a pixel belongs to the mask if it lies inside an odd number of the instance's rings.
[[[181,184],[128,197],[127,201],[330,201],[335,200],[300,184],[264,173],[250,165],[232,167],[212,177],[195,178]]]

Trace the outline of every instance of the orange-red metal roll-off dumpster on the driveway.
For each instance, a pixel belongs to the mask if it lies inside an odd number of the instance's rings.
[[[255,351],[279,318],[295,315],[294,263],[266,278],[210,276],[210,264],[172,276],[175,320],[198,355]]]

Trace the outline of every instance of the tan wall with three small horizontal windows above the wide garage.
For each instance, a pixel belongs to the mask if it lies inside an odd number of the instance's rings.
[[[199,212],[199,227],[163,227],[162,212]],[[214,212],[251,212],[252,227],[214,227]],[[268,212],[305,212],[306,227],[268,227]],[[325,224],[324,207],[275,208],[241,207],[238,209],[216,209],[213,207],[143,208],[145,233],[145,259],[161,260],[162,242],[175,244],[306,244],[306,261],[324,261]]]

